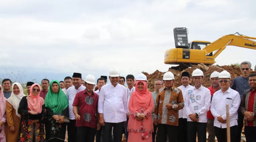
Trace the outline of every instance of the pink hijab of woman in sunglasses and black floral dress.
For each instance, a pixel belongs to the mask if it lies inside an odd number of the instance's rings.
[[[42,105],[44,105],[44,100],[42,97],[39,96],[40,91],[38,92],[38,95],[34,96],[32,94],[33,92],[33,87],[34,86],[38,86],[40,89],[39,84],[33,84],[30,88],[30,95],[29,95],[29,99],[28,99],[28,107],[31,109],[31,111],[35,111],[37,113],[41,113],[42,112]]]

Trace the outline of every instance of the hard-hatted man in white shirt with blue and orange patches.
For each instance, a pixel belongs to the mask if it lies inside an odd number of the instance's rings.
[[[211,92],[202,86],[203,72],[195,69],[192,72],[192,79],[195,86],[188,88],[184,95],[185,111],[188,115],[188,141],[206,142],[206,113],[210,109]]]

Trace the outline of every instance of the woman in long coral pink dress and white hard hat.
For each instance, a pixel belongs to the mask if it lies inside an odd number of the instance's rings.
[[[154,101],[148,91],[147,77],[139,74],[136,77],[135,91],[131,94],[128,109],[128,142],[152,142]]]

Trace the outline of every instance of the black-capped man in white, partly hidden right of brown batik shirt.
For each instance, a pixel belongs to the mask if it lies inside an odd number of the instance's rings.
[[[188,90],[188,88],[192,87],[191,85],[189,85],[189,81],[190,81],[190,75],[188,72],[182,72],[181,74],[181,83],[182,85],[179,86],[178,88],[181,89],[183,98],[184,95],[186,94],[186,91]],[[186,111],[183,109],[179,110],[179,127],[178,127],[178,139],[177,142],[187,142],[188,138],[187,138],[187,118],[188,115],[186,114]]]

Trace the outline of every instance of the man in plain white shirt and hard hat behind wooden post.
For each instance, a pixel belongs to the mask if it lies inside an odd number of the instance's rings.
[[[239,93],[229,87],[231,84],[230,78],[230,73],[227,71],[224,70],[220,73],[219,84],[221,90],[214,93],[211,103],[211,112],[215,117],[215,135],[218,142],[227,141],[226,104],[229,104],[230,141],[234,142],[236,139],[235,136],[238,119],[237,110],[241,99]]]

